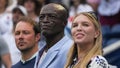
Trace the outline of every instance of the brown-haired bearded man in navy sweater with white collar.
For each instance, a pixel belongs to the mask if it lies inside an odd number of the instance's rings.
[[[21,51],[21,60],[12,68],[33,68],[38,52],[40,31],[37,23],[28,17],[21,17],[14,30],[17,48]]]

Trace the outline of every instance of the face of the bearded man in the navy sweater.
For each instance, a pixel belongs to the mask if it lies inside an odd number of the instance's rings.
[[[35,47],[38,42],[33,25],[23,21],[18,22],[15,28],[15,42],[20,51],[28,51]]]

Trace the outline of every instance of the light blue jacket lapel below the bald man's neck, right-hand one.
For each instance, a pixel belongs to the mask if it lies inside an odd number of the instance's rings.
[[[64,42],[63,42],[64,40]],[[64,45],[64,43],[67,41],[67,39],[65,39],[65,37],[62,38],[62,40],[60,40],[58,43],[56,43],[53,47],[51,47],[48,50],[48,53],[44,59],[44,61],[42,62],[42,64],[40,66],[43,66],[42,68],[48,67],[49,64],[54,60],[54,58],[57,56],[57,54],[59,53],[59,51],[61,50],[62,46]],[[47,62],[46,62],[47,61]]]

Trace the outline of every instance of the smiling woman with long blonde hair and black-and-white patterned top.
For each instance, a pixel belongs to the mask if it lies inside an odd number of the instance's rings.
[[[65,68],[108,68],[102,57],[101,26],[93,12],[84,12],[73,19],[71,47]]]

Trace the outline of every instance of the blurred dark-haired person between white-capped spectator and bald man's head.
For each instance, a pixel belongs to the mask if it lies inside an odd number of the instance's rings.
[[[38,0],[23,0],[24,7],[27,9],[28,17],[31,17],[37,23],[39,22],[39,13],[42,7]]]

